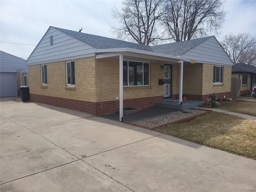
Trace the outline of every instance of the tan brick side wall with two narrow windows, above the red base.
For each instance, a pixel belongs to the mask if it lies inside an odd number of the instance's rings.
[[[76,59],[75,88],[66,86],[66,62],[47,65],[47,86],[41,83],[40,65],[28,66],[31,94],[96,102],[94,57]]]

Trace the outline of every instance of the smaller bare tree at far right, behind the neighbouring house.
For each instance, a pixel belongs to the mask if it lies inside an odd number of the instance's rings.
[[[228,34],[220,44],[234,63],[256,64],[256,36]]]

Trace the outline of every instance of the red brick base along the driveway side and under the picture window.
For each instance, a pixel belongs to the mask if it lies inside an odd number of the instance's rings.
[[[93,115],[113,114],[119,110],[119,100],[107,102],[88,102],[66,98],[57,98],[30,94],[30,101],[50,104],[76,111],[86,112]],[[156,102],[163,101],[163,96],[136,98],[124,100],[125,107],[147,108],[154,106]]]

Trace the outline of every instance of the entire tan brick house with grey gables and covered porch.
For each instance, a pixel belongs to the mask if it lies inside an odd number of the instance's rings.
[[[120,120],[164,98],[230,97],[233,65],[214,36],[146,46],[52,26],[26,64],[30,100]]]

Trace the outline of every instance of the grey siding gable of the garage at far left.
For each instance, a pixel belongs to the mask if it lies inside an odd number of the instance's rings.
[[[0,51],[0,72],[17,72],[26,68],[26,60]]]

